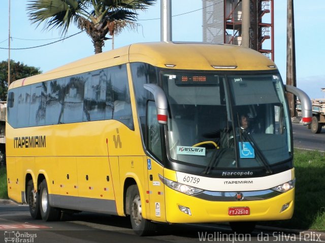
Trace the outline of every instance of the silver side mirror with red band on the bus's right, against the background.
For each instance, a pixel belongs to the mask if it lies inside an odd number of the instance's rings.
[[[301,89],[298,89],[294,86],[286,85],[285,90],[291,94],[294,94],[298,97],[298,99],[301,102],[301,111],[303,114],[303,125],[309,125],[311,124],[312,119],[312,105],[309,96],[302,91]]]

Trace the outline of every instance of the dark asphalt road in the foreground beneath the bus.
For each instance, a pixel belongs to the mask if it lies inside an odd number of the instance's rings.
[[[93,243],[93,242],[325,242],[319,232],[282,232],[258,228],[251,235],[234,234],[226,225],[182,224],[164,227],[152,236],[140,237],[128,218],[80,213],[64,221],[33,220],[27,206],[0,206],[0,242]]]

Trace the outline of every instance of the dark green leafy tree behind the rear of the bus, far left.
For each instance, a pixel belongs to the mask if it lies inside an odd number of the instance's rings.
[[[27,66],[20,62],[10,61],[10,82],[40,74],[40,68]],[[8,93],[8,61],[0,62],[0,99],[7,100]]]

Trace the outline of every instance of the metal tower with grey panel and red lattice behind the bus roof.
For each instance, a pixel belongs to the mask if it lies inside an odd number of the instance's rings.
[[[249,48],[274,60],[274,0],[249,1]],[[242,0],[203,0],[203,41],[242,45]]]

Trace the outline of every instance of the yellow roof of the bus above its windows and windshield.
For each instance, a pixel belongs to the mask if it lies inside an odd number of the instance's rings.
[[[236,67],[232,69],[236,71],[276,69],[273,61],[263,54],[235,45],[181,42],[138,43],[16,80],[10,85],[10,89],[127,62],[145,62],[163,68],[168,68],[166,65],[175,65],[172,69],[226,70],[226,67]]]

